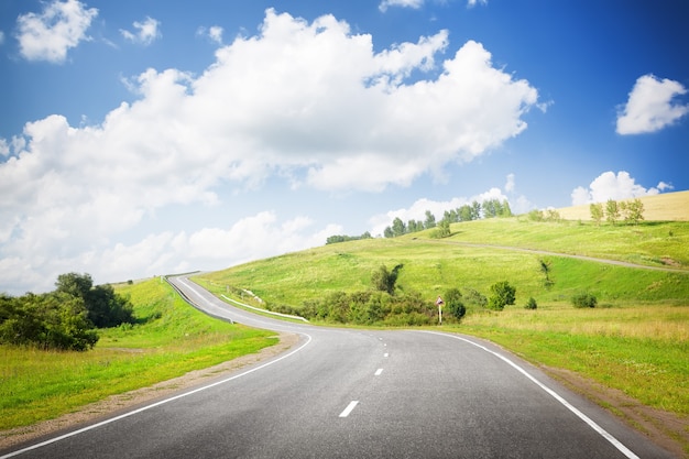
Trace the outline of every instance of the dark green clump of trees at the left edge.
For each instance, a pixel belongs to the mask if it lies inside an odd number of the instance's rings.
[[[61,274],[54,292],[0,295],[0,343],[43,350],[92,348],[97,328],[133,324],[133,306],[110,285],[94,286],[89,274]]]

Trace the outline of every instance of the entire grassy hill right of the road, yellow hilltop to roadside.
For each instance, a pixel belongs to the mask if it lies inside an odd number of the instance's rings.
[[[264,303],[241,299],[256,306],[299,310],[329,293],[371,289],[381,265],[403,264],[398,292],[418,292],[430,304],[450,287],[488,296],[492,284],[508,281],[516,288],[514,306],[493,312],[470,305],[461,321],[444,320],[442,328],[504,346],[636,428],[665,435],[689,457],[689,221],[682,214],[689,193],[644,198],[644,205],[646,221],[637,226],[599,227],[581,217],[479,220],[452,225],[445,239],[430,230],[335,243],[197,282],[230,296],[251,291]],[[566,209],[561,215],[570,216]],[[598,307],[572,307],[572,296],[583,292],[598,298]],[[531,297],[536,310],[523,307]],[[606,390],[628,398],[610,402]]]

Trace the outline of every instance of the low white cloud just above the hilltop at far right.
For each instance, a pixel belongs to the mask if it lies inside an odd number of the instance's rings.
[[[641,196],[657,195],[666,189],[672,189],[671,185],[660,182],[656,187],[644,188],[625,171],[604,172],[599,175],[588,188],[579,186],[571,193],[572,206],[592,203],[605,203],[609,199],[624,200]]]

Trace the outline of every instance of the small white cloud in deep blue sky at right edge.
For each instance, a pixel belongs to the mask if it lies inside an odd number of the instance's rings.
[[[674,102],[687,94],[678,81],[644,75],[636,80],[624,108],[617,113],[619,134],[659,131],[689,112],[689,103]]]

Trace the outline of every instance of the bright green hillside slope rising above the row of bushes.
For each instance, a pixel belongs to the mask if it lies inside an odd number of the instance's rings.
[[[528,297],[539,304],[568,302],[577,292],[591,292],[610,303],[682,303],[689,298],[688,222],[597,227],[515,217],[455,223],[451,231],[445,239],[433,239],[433,231],[423,231],[395,239],[335,243],[203,278],[226,289],[252,291],[272,305],[297,308],[329,292],[369,289],[374,270],[397,264],[404,265],[398,285],[429,299],[449,287],[488,295],[490,286],[500,281],[517,287],[517,303]],[[679,272],[568,256],[575,254]],[[542,262],[549,265],[553,281],[547,288]]]

